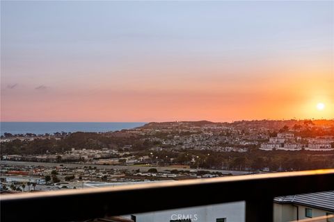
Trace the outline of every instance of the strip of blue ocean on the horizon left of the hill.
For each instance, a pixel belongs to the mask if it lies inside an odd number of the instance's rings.
[[[56,132],[108,132],[131,129],[143,126],[142,122],[1,122],[0,133],[25,134],[53,134]]]

